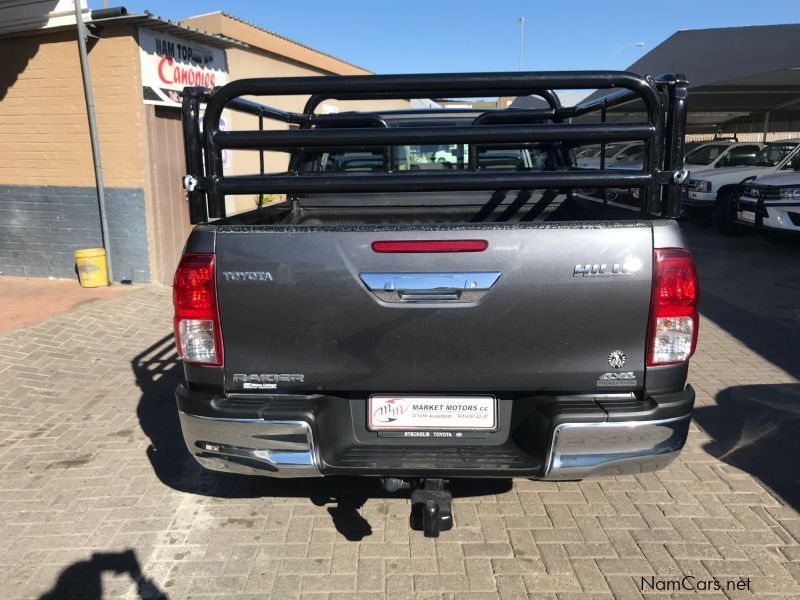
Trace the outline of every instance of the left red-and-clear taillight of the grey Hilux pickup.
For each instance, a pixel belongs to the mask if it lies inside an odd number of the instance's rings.
[[[184,254],[172,288],[175,343],[186,362],[221,365],[222,336],[217,313],[213,254]]]

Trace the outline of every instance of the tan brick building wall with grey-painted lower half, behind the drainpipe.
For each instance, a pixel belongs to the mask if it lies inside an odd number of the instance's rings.
[[[116,279],[150,281],[144,110],[130,27],[90,46]],[[75,31],[0,39],[0,272],[74,276],[100,244]]]

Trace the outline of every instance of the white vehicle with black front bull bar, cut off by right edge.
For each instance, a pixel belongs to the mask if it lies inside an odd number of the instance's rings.
[[[735,222],[747,227],[800,233],[800,153],[795,170],[748,182],[735,205]]]

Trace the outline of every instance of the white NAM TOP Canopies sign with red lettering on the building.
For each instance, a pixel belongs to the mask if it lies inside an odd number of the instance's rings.
[[[140,27],[139,54],[145,104],[180,106],[184,87],[213,88],[228,82],[225,52],[220,48]]]

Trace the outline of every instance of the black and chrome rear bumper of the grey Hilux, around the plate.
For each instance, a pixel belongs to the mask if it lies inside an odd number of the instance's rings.
[[[604,405],[602,400],[580,403],[575,397],[556,403],[517,398],[507,406],[514,413],[513,418],[509,413],[508,430],[486,440],[435,440],[436,444],[414,438],[359,439],[358,431],[345,426],[349,419],[343,419],[346,413],[355,417],[354,422],[360,417],[358,401],[353,399],[265,397],[257,418],[243,418],[243,413],[252,411],[255,398],[243,408],[242,402],[183,387],[177,398],[186,445],[201,465],[212,470],[271,477],[565,480],[641,473],[668,465],[686,441],[694,390],[688,386],[677,394],[648,398],[639,406],[616,401]],[[531,409],[525,403],[539,406]],[[198,406],[201,410],[196,410]],[[192,414],[192,408],[203,414]],[[238,414],[221,416],[225,412]],[[335,414],[327,414],[331,412]]]

